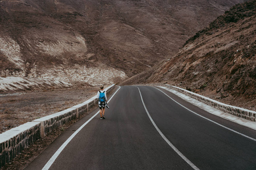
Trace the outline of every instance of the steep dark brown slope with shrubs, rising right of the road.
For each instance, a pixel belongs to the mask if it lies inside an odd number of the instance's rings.
[[[255,0],[230,8],[197,32],[174,57],[126,83],[173,84],[255,110],[255,10]]]

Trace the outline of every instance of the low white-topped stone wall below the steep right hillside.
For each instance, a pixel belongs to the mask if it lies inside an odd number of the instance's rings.
[[[256,112],[250,111],[248,109],[243,109],[243,108],[235,107],[233,105],[224,104],[224,103],[221,103],[219,101],[210,99],[208,97],[205,97],[205,96],[202,96],[202,95],[199,95],[199,94],[195,94],[191,91],[184,90],[183,88],[170,86],[168,84],[148,84],[148,85],[150,85],[150,86],[152,86],[152,85],[154,85],[154,86],[164,86],[164,87],[170,88],[172,90],[181,92],[184,95],[192,97],[193,99],[201,101],[202,103],[210,105],[211,107],[216,108],[216,109],[218,109],[220,111],[223,111],[225,113],[233,114],[234,116],[241,117],[241,118],[244,118],[246,120],[250,120],[250,121],[254,121],[254,122],[256,120]]]

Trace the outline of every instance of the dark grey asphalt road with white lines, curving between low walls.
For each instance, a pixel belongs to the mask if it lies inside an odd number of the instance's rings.
[[[256,169],[255,130],[160,90],[121,87],[105,120],[90,113],[26,169]]]

